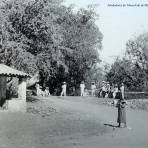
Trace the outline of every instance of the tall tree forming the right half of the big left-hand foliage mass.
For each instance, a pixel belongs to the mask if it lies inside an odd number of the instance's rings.
[[[72,50],[73,54],[65,56],[69,65],[69,82],[79,87],[82,80],[86,80],[86,73],[96,62],[100,62],[98,50],[102,47],[102,34],[95,25],[96,14],[92,9],[79,10],[76,14],[68,9],[68,15],[60,18],[64,28],[62,45]],[[68,32],[68,33],[67,33]]]

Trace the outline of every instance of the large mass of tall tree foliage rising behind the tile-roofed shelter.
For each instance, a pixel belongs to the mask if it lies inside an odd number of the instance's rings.
[[[92,8],[73,12],[61,0],[11,0],[0,12],[1,62],[39,71],[40,85],[52,93],[62,81],[77,86],[100,61],[102,34]]]

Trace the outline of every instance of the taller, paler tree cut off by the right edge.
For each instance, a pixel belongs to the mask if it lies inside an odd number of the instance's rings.
[[[129,40],[127,46],[127,57],[132,61],[134,71],[139,76],[143,89],[148,86],[148,33],[140,34],[132,40]]]

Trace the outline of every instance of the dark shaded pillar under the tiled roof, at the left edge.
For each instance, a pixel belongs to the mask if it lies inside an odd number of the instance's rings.
[[[7,77],[0,76],[0,106],[1,107],[6,101],[6,87],[7,87]]]

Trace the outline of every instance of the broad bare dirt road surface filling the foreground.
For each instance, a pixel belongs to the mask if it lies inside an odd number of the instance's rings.
[[[117,109],[99,98],[48,97],[26,113],[0,111],[0,148],[147,148],[148,112],[127,109],[128,128],[117,128]]]

